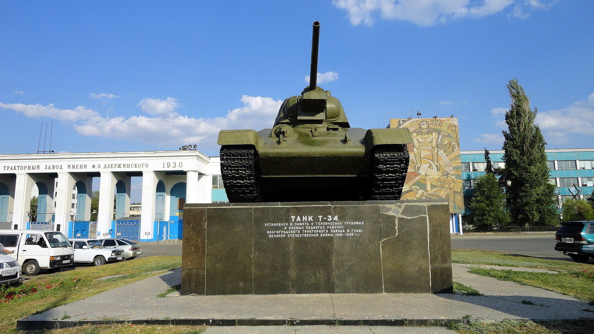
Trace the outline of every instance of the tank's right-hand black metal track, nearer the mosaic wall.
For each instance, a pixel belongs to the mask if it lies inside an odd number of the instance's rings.
[[[399,200],[409,165],[406,144],[377,147],[371,166],[369,200]]]

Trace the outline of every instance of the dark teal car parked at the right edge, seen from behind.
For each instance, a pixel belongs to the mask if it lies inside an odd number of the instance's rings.
[[[586,263],[594,259],[594,220],[561,223],[555,233],[555,250],[568,255],[572,260]]]

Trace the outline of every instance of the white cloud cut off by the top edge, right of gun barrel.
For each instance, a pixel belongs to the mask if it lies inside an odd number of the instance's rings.
[[[545,10],[558,0],[549,0],[547,5],[538,0],[334,0],[333,4],[347,11],[353,26],[372,26],[378,18],[410,21],[426,27],[446,23],[463,17],[484,17],[496,14],[516,4],[511,12],[532,12]]]

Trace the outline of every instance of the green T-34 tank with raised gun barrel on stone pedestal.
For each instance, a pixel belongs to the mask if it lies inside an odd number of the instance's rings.
[[[230,202],[400,199],[410,132],[350,127],[340,101],[316,85],[319,37],[315,21],[309,86],[283,102],[272,129],[220,131]]]

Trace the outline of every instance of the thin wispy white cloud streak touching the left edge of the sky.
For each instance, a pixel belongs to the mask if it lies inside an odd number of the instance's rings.
[[[96,111],[87,109],[84,106],[77,106],[74,109],[58,109],[52,103],[42,106],[39,103],[36,105],[24,105],[23,103],[7,104],[0,102],[0,108],[12,109],[27,117],[49,117],[59,119],[63,122],[83,121],[99,115]]]

